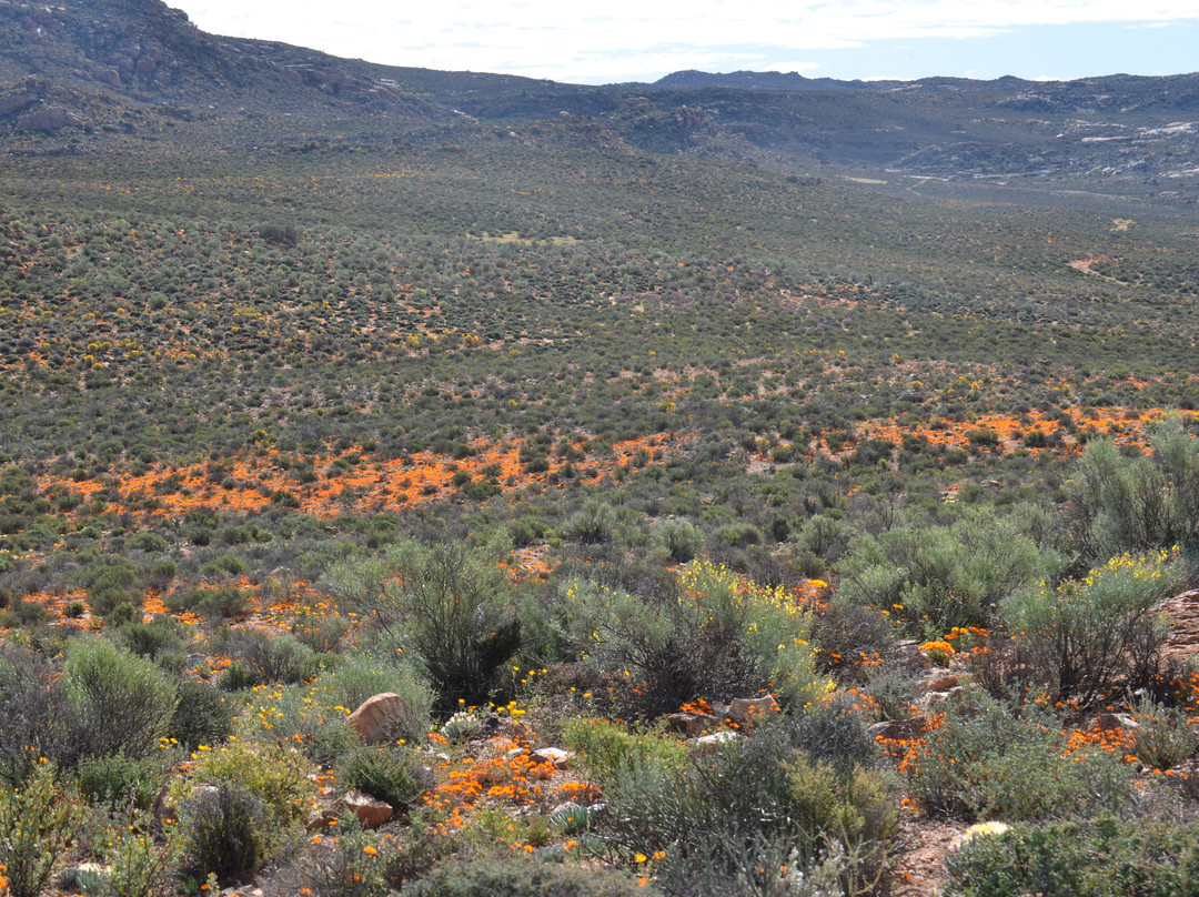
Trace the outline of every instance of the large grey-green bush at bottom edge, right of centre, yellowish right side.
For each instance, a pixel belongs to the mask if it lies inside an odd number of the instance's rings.
[[[747,884],[760,892],[788,862],[808,873],[832,855],[846,857],[845,892],[862,892],[881,875],[898,835],[882,773],[813,761],[775,727],[715,753],[694,752],[681,771],[617,775],[605,794],[601,836],[626,857],[657,857],[668,893],[728,893]]]

